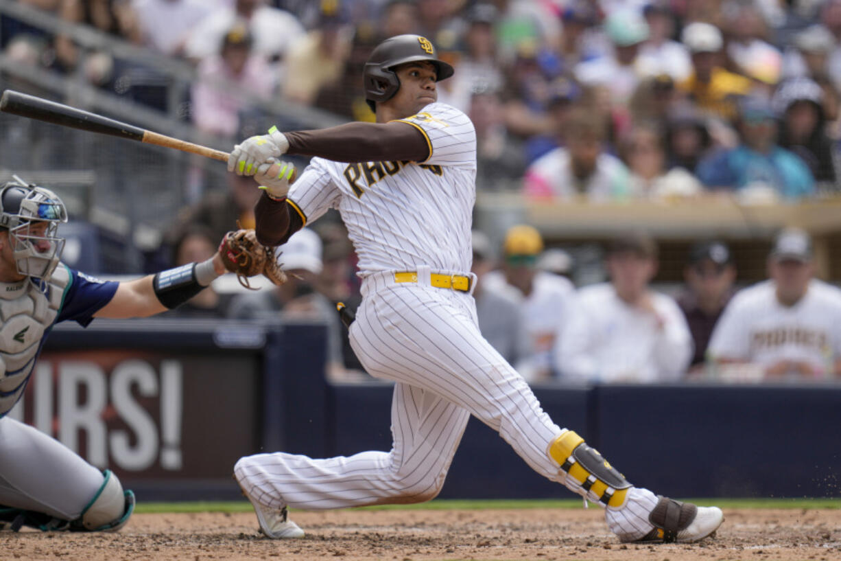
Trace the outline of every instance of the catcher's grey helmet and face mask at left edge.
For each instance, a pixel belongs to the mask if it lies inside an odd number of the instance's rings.
[[[67,210],[49,189],[14,179],[0,184],[0,228],[8,232],[19,274],[46,281],[64,250],[58,225],[67,222]]]

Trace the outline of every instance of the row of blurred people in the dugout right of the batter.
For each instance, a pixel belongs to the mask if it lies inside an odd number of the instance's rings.
[[[815,278],[807,232],[779,232],[766,280],[737,284],[727,243],[685,255],[684,282],[653,286],[658,244],[624,232],[606,279],[576,288],[574,259],[511,227],[495,252],[473,233],[479,328],[530,382],[826,382],[841,376],[841,290]]]

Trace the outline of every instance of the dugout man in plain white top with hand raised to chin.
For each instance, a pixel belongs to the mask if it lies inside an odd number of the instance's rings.
[[[632,233],[608,248],[608,283],[574,300],[555,359],[564,381],[671,382],[692,356],[692,338],[674,299],[652,291],[657,244]]]

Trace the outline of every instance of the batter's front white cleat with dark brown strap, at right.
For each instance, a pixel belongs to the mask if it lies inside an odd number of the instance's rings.
[[[724,521],[717,506],[696,506],[680,500],[659,497],[657,506],[648,515],[654,529],[632,543],[692,543],[716,532]]]

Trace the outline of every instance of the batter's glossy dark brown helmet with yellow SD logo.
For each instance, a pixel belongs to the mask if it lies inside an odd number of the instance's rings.
[[[372,111],[376,102],[388,101],[399,90],[400,81],[394,67],[415,61],[431,62],[435,66],[436,82],[451,77],[455,72],[447,62],[438,60],[438,51],[426,37],[396,35],[386,39],[373,50],[362,72],[365,100]]]

